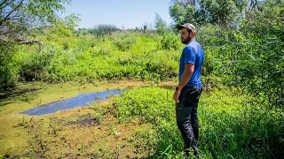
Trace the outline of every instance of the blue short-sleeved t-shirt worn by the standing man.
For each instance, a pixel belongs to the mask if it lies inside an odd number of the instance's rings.
[[[179,81],[185,71],[185,64],[194,64],[193,76],[191,79],[189,79],[185,87],[202,87],[201,67],[203,60],[204,53],[201,45],[198,42],[192,41],[185,46],[185,49],[183,50],[183,53],[179,59]]]

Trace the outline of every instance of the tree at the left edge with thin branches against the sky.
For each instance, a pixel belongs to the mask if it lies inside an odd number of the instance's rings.
[[[15,52],[17,43],[26,40],[36,28],[74,27],[75,15],[59,18],[70,0],[1,0],[0,1],[0,89],[15,85],[20,66]]]

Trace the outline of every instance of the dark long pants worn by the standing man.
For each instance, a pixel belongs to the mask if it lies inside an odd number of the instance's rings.
[[[198,155],[198,117],[197,107],[202,87],[184,87],[176,105],[177,126],[185,141],[185,152],[193,148],[194,155]]]

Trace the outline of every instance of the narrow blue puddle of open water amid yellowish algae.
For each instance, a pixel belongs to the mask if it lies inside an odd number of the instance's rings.
[[[36,108],[23,111],[23,114],[41,116],[44,114],[55,113],[59,110],[70,110],[76,107],[89,106],[94,102],[103,101],[112,95],[122,95],[123,90],[113,89],[103,92],[80,94],[70,99],[60,100],[37,106]]]

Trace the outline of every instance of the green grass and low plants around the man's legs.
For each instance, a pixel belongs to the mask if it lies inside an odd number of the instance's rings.
[[[245,104],[248,96],[225,88],[201,95],[198,109],[201,158],[277,158],[283,155],[280,153],[283,113],[251,108]],[[144,144],[145,150],[154,148],[154,158],[183,155],[172,93],[173,90],[160,87],[135,88],[114,101],[122,122],[138,119],[149,125],[147,131],[138,134],[146,136],[142,138],[145,141],[140,142],[148,144],[148,147]],[[147,141],[149,138],[152,142]]]

